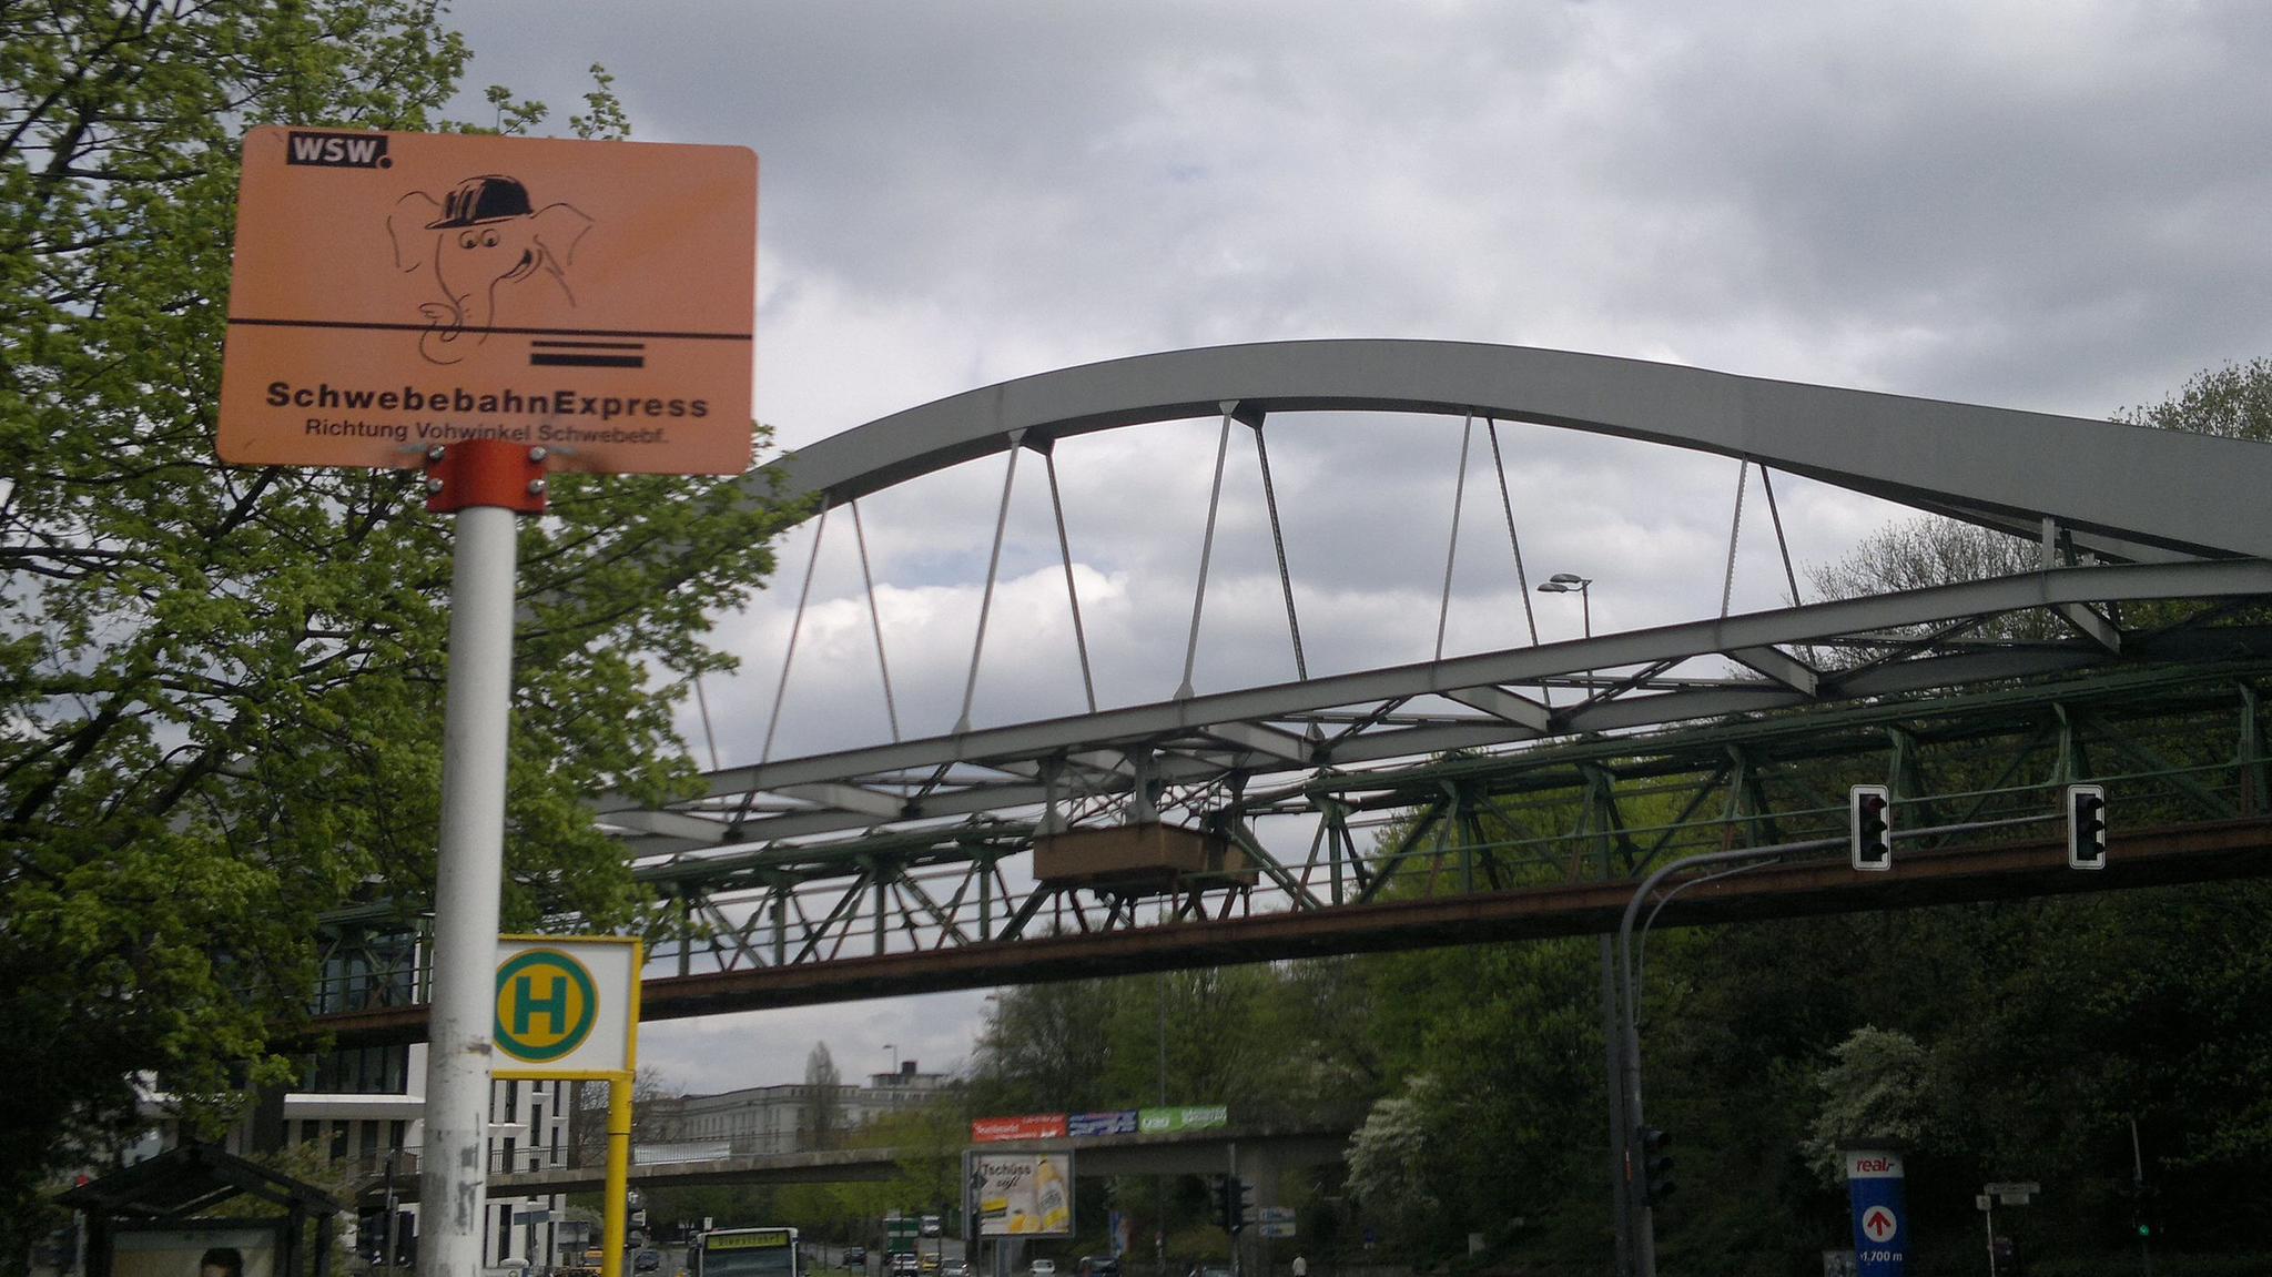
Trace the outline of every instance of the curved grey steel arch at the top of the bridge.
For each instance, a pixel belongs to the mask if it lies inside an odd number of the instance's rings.
[[[2272,557],[2272,445],[2090,418],[1456,341],[1277,341],[984,386],[822,439],[786,491],[852,500],[1011,448],[1236,411],[1477,414],[1743,457],[2115,559]],[[750,484],[768,484],[763,475]]]

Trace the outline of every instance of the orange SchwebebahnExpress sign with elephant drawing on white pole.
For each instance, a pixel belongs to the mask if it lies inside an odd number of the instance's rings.
[[[750,466],[757,152],[264,125],[245,134],[223,461]]]

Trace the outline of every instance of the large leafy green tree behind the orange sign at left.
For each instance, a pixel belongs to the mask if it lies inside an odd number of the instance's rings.
[[[136,1077],[209,1132],[289,1075],[325,909],[427,904],[448,525],[416,473],[220,466],[211,423],[241,130],[459,127],[438,9],[0,7],[0,1254],[43,1177],[143,1122]],[[636,920],[582,798],[688,782],[670,707],[727,668],[709,616],[786,516],[563,475],[525,520],[507,927]]]

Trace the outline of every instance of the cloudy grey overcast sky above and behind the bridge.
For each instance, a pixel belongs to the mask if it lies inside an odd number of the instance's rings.
[[[468,0],[454,20],[468,118],[507,84],[566,134],[600,61],[634,139],[759,152],[757,416],[788,448],[1009,377],[1272,339],[2077,416],[2272,352],[2261,5]],[[1461,423],[1272,420],[1270,445],[1311,673],[1425,659]],[[1502,445],[1531,582],[1595,577],[1597,629],[1720,607],[1729,461],[1540,427]],[[1059,450],[1104,702],[1175,688],[1211,461],[1213,423]],[[861,502],[911,736],[952,725],[970,661],[1002,461],[968,470]],[[1488,484],[1470,470],[1447,650],[1527,641]],[[1234,452],[1200,691],[1293,673],[1256,493]],[[1788,593],[1756,475],[1747,493],[1736,611]],[[1902,514],[1774,495],[1802,584]],[[822,543],[772,757],[888,738],[847,532]],[[727,620],[727,766],[763,750],[809,545],[784,541],[770,598]],[[972,718],[1077,709],[1038,466],[1002,582]],[[1577,636],[1568,600],[1534,602],[1543,638]],[[693,1091],[800,1079],[820,1041],[847,1077],[945,1068],[977,1007],[652,1025],[643,1059]]]

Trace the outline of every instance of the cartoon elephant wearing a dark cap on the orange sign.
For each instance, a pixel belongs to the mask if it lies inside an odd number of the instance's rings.
[[[438,216],[436,216],[438,214]],[[568,266],[591,218],[570,205],[529,205],[516,177],[484,175],[459,182],[441,202],[425,191],[395,200],[386,234],[404,275],[432,268],[438,300],[418,304],[427,329],[418,354],[457,364],[468,345],[488,341],[498,311],[520,289],[559,289],[568,304]]]

